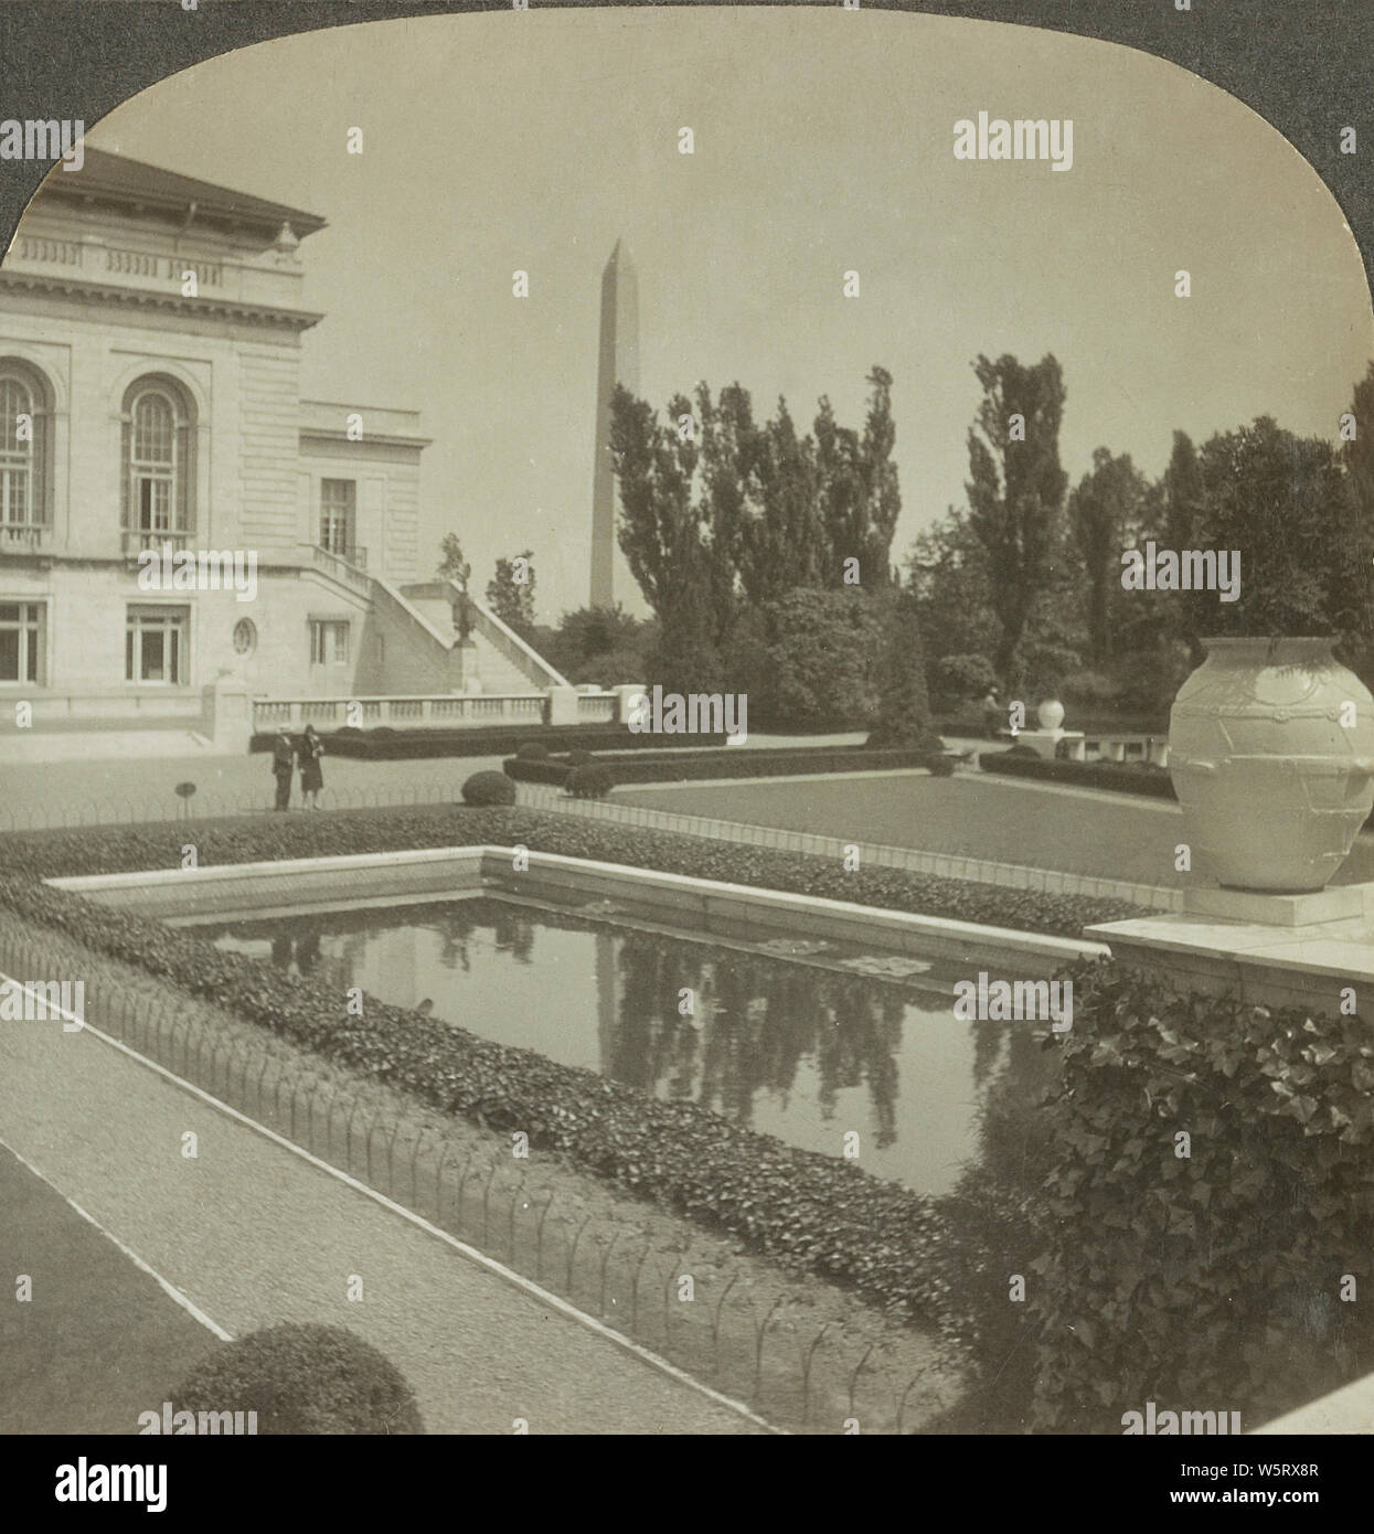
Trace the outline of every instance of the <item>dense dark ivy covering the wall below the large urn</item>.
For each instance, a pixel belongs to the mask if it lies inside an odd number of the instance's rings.
[[[1374,1220],[1368,1019],[1070,974],[1063,1091],[1038,1115],[1058,1154],[1027,1266],[1030,1430],[1119,1433],[1146,1401],[1254,1427],[1368,1370],[1374,1321],[1337,1293],[1368,1273]]]

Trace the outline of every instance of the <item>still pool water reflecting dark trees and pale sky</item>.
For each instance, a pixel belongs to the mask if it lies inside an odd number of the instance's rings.
[[[1050,1066],[1029,1023],[955,1020],[940,971],[915,989],[862,971],[923,965],[820,943],[802,962],[486,896],[202,931],[790,1144],[857,1132],[860,1166],[931,1193],[977,1157],[991,1081],[1030,1092]]]

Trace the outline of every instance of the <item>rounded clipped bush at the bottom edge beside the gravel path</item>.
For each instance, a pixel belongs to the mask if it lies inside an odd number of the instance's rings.
[[[400,1370],[347,1327],[284,1324],[212,1353],[179,1390],[178,1411],[256,1411],[261,1433],[423,1433]]]

